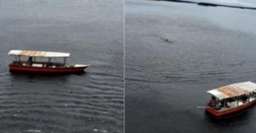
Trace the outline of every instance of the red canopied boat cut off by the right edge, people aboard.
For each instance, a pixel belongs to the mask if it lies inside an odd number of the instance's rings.
[[[256,84],[247,81],[235,83],[207,91],[212,95],[209,103],[205,104],[205,111],[214,117],[222,117],[237,113],[256,103]],[[212,101],[216,105],[212,106]]]

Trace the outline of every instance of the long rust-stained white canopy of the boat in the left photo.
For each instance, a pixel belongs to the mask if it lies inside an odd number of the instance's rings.
[[[11,50],[8,55],[32,56],[32,57],[69,57],[70,53],[30,51],[30,50]]]

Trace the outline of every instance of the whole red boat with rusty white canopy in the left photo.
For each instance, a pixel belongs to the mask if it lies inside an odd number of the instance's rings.
[[[83,73],[90,65],[67,63],[70,53],[11,50],[8,55],[14,55],[15,60],[9,64],[10,72],[40,73],[40,74],[70,74]],[[28,60],[20,58],[28,57]],[[37,61],[37,58],[47,58],[47,61]],[[52,58],[63,58],[63,63],[53,62]],[[57,59],[56,59],[57,60]]]

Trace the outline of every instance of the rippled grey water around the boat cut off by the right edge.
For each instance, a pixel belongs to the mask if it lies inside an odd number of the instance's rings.
[[[125,5],[126,133],[255,131],[256,107],[220,120],[197,108],[207,90],[256,81],[254,10]]]

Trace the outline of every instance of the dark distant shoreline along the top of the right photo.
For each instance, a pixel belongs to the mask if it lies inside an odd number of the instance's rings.
[[[154,1],[161,1],[161,0],[154,0]],[[179,2],[179,3],[193,3],[193,4],[197,4],[197,5],[201,5],[201,6],[213,6],[213,7],[222,6],[222,7],[231,7],[231,8],[256,10],[255,7],[231,6],[231,5],[206,3],[206,2],[191,2],[191,1],[183,1],[183,0],[163,0],[163,1]]]

